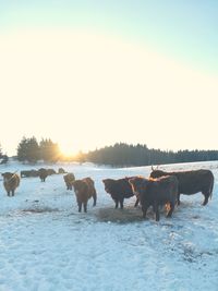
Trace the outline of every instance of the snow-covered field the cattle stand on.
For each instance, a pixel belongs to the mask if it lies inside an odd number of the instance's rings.
[[[38,166],[38,168],[40,168]],[[77,179],[92,177],[97,207],[78,214],[62,174],[22,178],[14,197],[0,181],[0,291],[218,290],[218,161],[181,163],[167,170],[211,169],[211,201],[181,195],[171,219],[161,211],[142,219],[135,197],[114,209],[101,180],[142,174],[150,167],[111,169],[93,165],[56,165]],[[10,162],[0,171],[37,168]]]

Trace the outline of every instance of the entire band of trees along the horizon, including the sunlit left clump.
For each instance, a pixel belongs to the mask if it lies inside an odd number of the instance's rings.
[[[59,145],[50,138],[43,138],[39,143],[33,136],[23,137],[17,146],[14,157],[21,162],[35,163],[39,160],[45,162],[77,161],[94,162],[97,165],[110,165],[112,167],[149,166],[192,161],[218,160],[218,150],[161,150],[148,148],[146,145],[129,145],[117,143],[88,153],[80,151],[75,156],[65,157],[61,154]],[[0,147],[0,162],[7,162],[7,155]]]

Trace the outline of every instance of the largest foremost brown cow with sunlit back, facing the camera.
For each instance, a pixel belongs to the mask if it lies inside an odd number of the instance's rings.
[[[174,175],[166,175],[157,179],[132,178],[129,180],[133,193],[142,205],[143,218],[149,206],[153,206],[156,221],[159,221],[159,206],[168,205],[167,217],[171,217],[178,199],[178,179]]]

